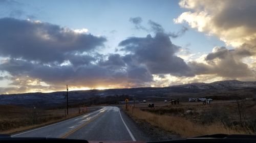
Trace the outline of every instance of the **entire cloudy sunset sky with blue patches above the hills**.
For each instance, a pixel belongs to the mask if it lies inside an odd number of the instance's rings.
[[[0,94],[255,81],[255,6],[0,0]]]

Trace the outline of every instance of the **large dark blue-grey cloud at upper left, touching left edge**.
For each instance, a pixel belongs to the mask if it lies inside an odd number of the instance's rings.
[[[44,22],[13,18],[0,19],[0,55],[42,63],[66,60],[72,52],[82,53],[103,46],[104,37],[77,34]]]

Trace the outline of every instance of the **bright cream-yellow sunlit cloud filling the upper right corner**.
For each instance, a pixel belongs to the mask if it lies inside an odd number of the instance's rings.
[[[255,1],[182,0],[179,5],[189,11],[174,19],[176,23],[187,22],[199,32],[215,35],[234,47],[256,44]]]

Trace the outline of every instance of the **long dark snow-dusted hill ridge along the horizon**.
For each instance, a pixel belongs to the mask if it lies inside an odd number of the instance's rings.
[[[189,83],[164,88],[131,88],[70,91],[70,104],[85,103],[96,96],[130,95],[136,100],[163,101],[163,99],[180,98],[187,101],[189,97],[210,97],[228,100],[234,97],[251,97],[256,93],[256,81],[224,80],[212,83]],[[95,100],[95,99],[94,99]],[[25,93],[0,95],[0,104],[24,105],[29,107],[60,107],[66,104],[66,92]]]

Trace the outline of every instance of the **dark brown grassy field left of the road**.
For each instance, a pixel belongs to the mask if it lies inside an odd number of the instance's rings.
[[[78,108],[71,108],[65,116],[65,109],[44,110],[13,105],[0,105],[0,134],[11,134],[81,115]]]

